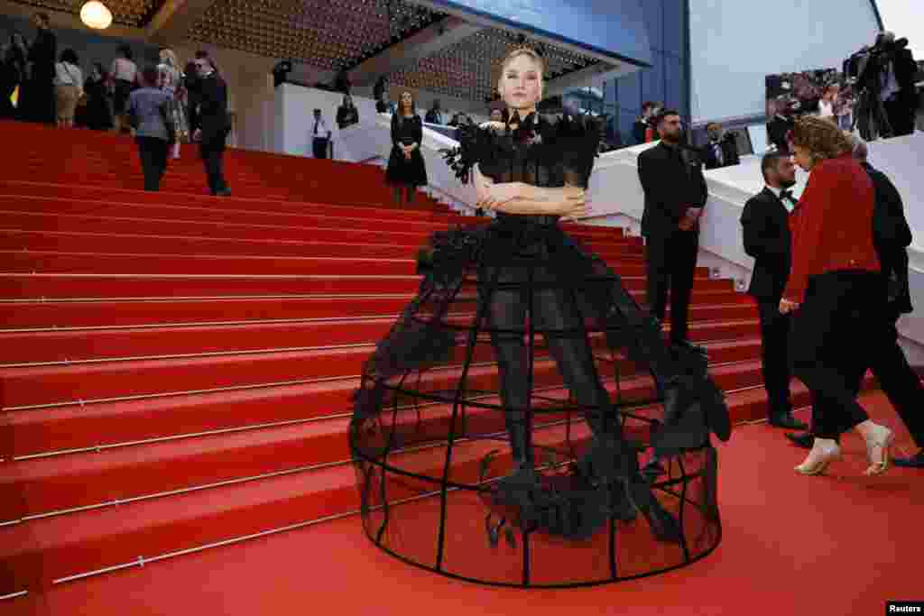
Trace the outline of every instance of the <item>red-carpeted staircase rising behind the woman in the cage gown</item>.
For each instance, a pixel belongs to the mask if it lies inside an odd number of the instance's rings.
[[[419,245],[471,219],[395,210],[378,167],[258,152],[228,151],[234,197],[208,197],[189,146],[145,193],[128,139],[0,130],[0,596],[355,513],[361,363]],[[638,238],[569,231],[642,298]],[[748,297],[700,269],[692,320],[733,418],[763,417]],[[633,369],[622,393],[650,395]]]

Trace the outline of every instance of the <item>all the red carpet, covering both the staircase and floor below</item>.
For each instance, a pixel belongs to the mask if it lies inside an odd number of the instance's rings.
[[[52,610],[45,613],[94,616],[285,614],[317,601],[336,613],[390,613],[375,607],[379,600],[422,613],[435,607],[422,597],[442,602],[444,594],[458,595],[447,599],[452,609],[480,598],[486,607],[499,602],[493,613],[517,610],[522,594],[492,591],[488,600],[483,589],[384,558],[352,515],[54,585],[140,556],[356,512],[346,426],[361,362],[416,291],[420,243],[472,219],[423,195],[414,209],[396,211],[376,167],[258,152],[228,152],[234,198],[203,194],[201,163],[189,147],[171,164],[164,192],[144,193],[128,139],[0,129],[24,144],[0,154],[0,596],[30,591],[0,599],[0,610],[43,613],[42,589]],[[640,298],[638,238],[570,227]],[[691,337],[709,348],[734,419],[763,417],[760,338],[748,297],[702,269],[692,319]],[[650,396],[630,362],[621,369],[623,395]],[[553,372],[541,360],[537,381],[553,387]],[[496,373],[483,365],[472,377],[490,387]],[[806,403],[803,388],[795,396]],[[445,417],[435,406],[422,426],[439,429]],[[487,426],[495,418],[471,420]],[[554,439],[554,429],[545,435]],[[758,603],[775,588],[777,605],[798,606],[809,598],[791,596],[794,589],[807,592],[816,577],[833,588],[838,576],[852,580],[848,592],[874,589],[883,600],[907,589],[888,586],[902,570],[883,563],[913,562],[899,539],[910,535],[903,521],[919,476],[833,484],[795,477],[797,462],[778,433],[739,429],[723,447],[726,534],[716,554],[676,574],[554,600],[583,601],[597,613],[605,597],[612,605],[728,607],[743,605],[736,598],[744,600],[746,588],[764,597]],[[842,506],[851,500],[853,508]],[[865,536],[859,529],[868,526],[873,534]],[[807,554],[818,562],[803,566]],[[851,577],[861,572],[868,582]],[[334,603],[346,587],[346,603]]]

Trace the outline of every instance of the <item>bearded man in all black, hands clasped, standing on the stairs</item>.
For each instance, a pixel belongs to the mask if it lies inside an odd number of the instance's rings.
[[[663,321],[671,290],[671,342],[703,352],[687,338],[687,318],[699,253],[699,216],[709,196],[699,156],[680,145],[680,115],[664,111],[655,119],[661,143],[638,156],[645,191],[641,234],[645,237],[648,306]]]

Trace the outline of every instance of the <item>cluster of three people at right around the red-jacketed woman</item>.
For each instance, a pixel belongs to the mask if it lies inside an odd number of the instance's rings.
[[[921,448],[894,463],[924,467],[918,411],[924,387],[895,329],[912,309],[911,231],[901,196],[869,164],[862,139],[830,119],[800,117],[789,139],[785,151],[764,155],[766,187],[748,200],[741,217],[745,249],[755,259],[748,293],[760,308],[771,423],[807,428],[790,415],[789,380],[795,376],[812,403],[811,430],[786,435],[811,450],[796,471],[821,473],[839,456],[841,434],[855,429],[867,445],[867,475],[881,474],[894,432],[871,421],[857,403],[869,368]],[[797,201],[794,160],[811,172]]]

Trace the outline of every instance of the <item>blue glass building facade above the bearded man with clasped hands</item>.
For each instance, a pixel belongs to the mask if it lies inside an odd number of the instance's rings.
[[[665,103],[687,120],[690,115],[687,0],[645,0],[642,10],[652,66],[603,84],[602,111],[610,116],[607,138],[626,146],[636,145],[632,123],[645,101]]]

